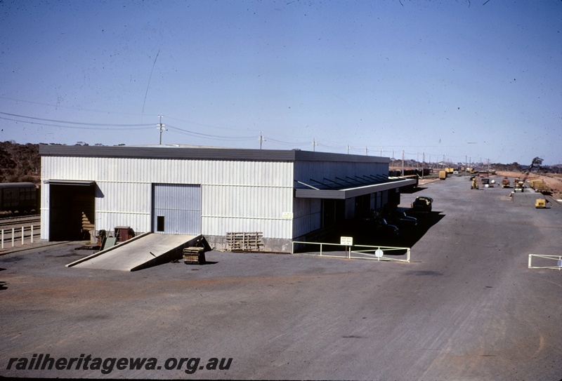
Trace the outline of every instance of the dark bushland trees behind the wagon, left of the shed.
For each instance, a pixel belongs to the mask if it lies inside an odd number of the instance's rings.
[[[0,142],[0,182],[35,182],[41,177],[39,145]]]

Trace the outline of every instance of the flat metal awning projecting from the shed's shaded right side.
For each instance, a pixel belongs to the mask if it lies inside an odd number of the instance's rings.
[[[336,199],[345,200],[388,189],[415,185],[416,179],[388,178],[381,175],[363,175],[353,178],[335,178],[295,180],[295,197],[299,199]]]

